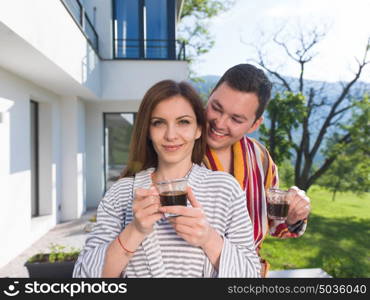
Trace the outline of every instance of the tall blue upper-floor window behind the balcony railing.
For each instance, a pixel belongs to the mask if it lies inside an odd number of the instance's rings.
[[[175,1],[115,0],[114,57],[174,59]]]

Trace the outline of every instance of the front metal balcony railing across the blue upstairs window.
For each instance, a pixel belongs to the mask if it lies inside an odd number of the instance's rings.
[[[114,59],[185,60],[185,54],[179,40],[114,39]]]

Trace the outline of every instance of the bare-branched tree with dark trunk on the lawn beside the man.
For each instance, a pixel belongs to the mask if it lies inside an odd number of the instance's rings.
[[[295,157],[295,185],[308,190],[329,170],[339,155],[345,151],[346,146],[362,137],[361,134],[354,134],[355,130],[352,126],[354,121],[350,117],[350,112],[356,106],[358,98],[353,97],[351,92],[363,69],[369,64],[367,55],[370,51],[370,39],[367,41],[363,58],[357,60],[357,69],[352,80],[342,82],[340,93],[330,98],[327,97],[325,85],[310,86],[304,78],[307,64],[317,55],[314,53],[315,46],[325,34],[317,28],[309,32],[300,31],[293,44],[281,36],[282,31],[279,30],[272,39],[273,43],[283,49],[287,59],[298,64],[298,80],[294,82],[284,77],[267,62],[267,54],[263,47],[255,48],[257,59],[254,62],[265,69],[282,90],[288,92],[284,99],[281,99],[281,95],[275,96],[274,100],[278,97],[276,105],[273,104],[274,101],[269,104],[271,108],[268,108],[268,114],[272,121],[270,128],[263,129],[262,133],[265,141],[268,141],[267,146],[272,147],[273,155],[279,161],[284,159],[284,155],[289,157],[290,151],[286,148],[287,145],[291,147]],[[297,101],[302,96],[304,101]],[[285,105],[282,104],[284,101],[286,101]],[[289,103],[296,106],[290,107]],[[278,105],[281,105],[280,108]],[[357,110],[359,109],[357,107]],[[281,124],[283,124],[282,127],[280,127]],[[345,124],[347,126],[344,126]],[[327,143],[329,140],[331,143]],[[341,145],[340,152],[335,145]],[[324,160],[320,165],[315,166],[315,158],[322,150],[325,150]]]

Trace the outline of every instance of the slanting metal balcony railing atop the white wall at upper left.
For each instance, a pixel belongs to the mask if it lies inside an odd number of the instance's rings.
[[[61,0],[86,36],[90,45],[99,53],[99,36],[79,0]]]

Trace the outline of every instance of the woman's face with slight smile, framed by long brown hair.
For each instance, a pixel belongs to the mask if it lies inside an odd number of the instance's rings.
[[[190,103],[174,96],[154,108],[149,133],[159,165],[188,164],[201,129]]]

